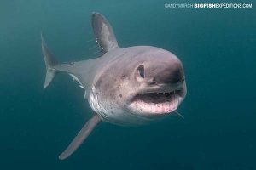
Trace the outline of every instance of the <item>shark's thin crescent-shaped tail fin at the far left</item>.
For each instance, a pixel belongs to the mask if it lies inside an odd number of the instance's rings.
[[[49,48],[44,42],[44,37],[42,33],[41,33],[41,39],[42,39],[42,51],[44,55],[44,62],[46,65],[46,76],[45,76],[44,88],[47,88],[49,83],[55,77],[56,71],[53,67],[57,65],[58,62],[54,59],[53,54],[51,54]]]

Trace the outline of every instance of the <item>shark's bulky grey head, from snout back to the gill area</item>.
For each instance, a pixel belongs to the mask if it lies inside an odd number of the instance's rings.
[[[98,103],[113,122],[154,120],[172,115],[187,93],[182,62],[161,48],[136,46],[122,54],[96,80]],[[108,54],[106,54],[108,55]],[[97,111],[101,112],[101,111]]]

